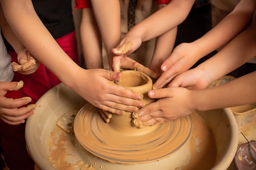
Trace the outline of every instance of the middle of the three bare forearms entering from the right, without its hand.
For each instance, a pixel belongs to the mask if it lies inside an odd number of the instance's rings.
[[[255,21],[254,21],[255,22]],[[243,65],[256,56],[256,32],[254,22],[232,39],[215,56],[198,65],[209,83]]]

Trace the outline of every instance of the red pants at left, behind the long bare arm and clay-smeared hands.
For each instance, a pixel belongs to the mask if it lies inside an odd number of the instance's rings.
[[[79,64],[79,54],[77,48],[75,31],[56,39],[61,48]],[[12,62],[17,62],[17,54],[9,52]],[[50,72],[44,65],[30,75],[14,72],[13,81],[24,82],[24,86],[18,91],[9,91],[5,95],[7,98],[21,98],[29,96],[34,104],[49,89],[60,83],[59,79]],[[4,156],[5,163],[10,170],[34,170],[34,161],[31,159],[26,149],[25,123],[10,125],[0,119],[0,153]],[[4,162],[0,157],[0,170],[4,167]]]

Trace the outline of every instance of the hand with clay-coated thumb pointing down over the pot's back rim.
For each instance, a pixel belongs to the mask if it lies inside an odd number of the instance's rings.
[[[128,38],[128,36],[130,37]],[[110,63],[110,70],[120,72],[122,59],[137,50],[141,46],[141,43],[141,38],[126,34],[117,48],[112,48],[113,59],[112,63]]]

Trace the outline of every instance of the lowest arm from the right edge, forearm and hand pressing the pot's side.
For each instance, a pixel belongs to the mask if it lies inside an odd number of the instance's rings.
[[[187,116],[195,111],[207,111],[256,102],[256,72],[223,85],[202,90],[168,87],[148,92],[151,98],[160,98],[137,111],[144,125],[163,123]]]

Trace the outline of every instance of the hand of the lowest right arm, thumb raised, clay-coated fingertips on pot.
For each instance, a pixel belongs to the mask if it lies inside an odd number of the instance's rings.
[[[191,92],[183,87],[168,87],[148,92],[150,98],[160,98],[137,111],[144,126],[163,123],[195,112]]]

